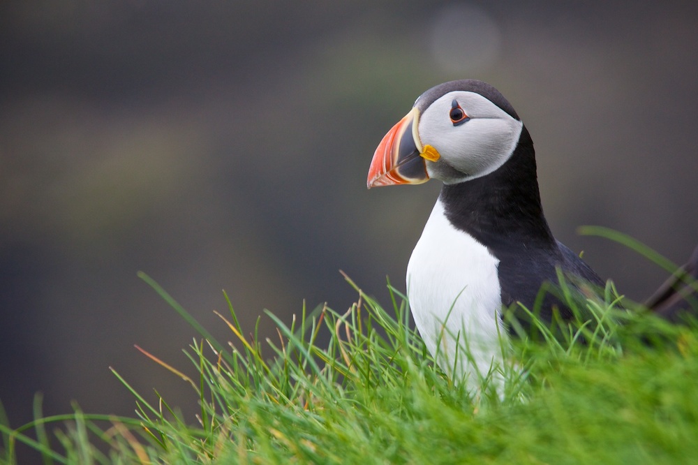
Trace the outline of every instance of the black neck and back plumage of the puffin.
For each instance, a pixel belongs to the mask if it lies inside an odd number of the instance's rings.
[[[540,202],[533,140],[525,126],[514,154],[504,165],[486,176],[445,184],[440,200],[450,222],[487,246],[499,260],[502,302],[507,307],[521,302],[533,311],[543,283],[558,282],[557,268],[572,281],[581,279],[593,286],[604,285],[550,231]],[[582,295],[588,294],[584,285],[576,289]],[[550,320],[554,307],[558,307],[563,318],[572,316],[570,309],[550,293],[537,310],[542,318]],[[520,309],[518,314],[523,314]]]

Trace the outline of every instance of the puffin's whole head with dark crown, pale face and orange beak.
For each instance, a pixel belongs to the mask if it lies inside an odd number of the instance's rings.
[[[367,186],[456,184],[489,175],[514,153],[523,123],[512,105],[478,80],[424,92],[373,154]]]

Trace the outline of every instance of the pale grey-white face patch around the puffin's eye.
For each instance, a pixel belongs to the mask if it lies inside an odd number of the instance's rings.
[[[454,123],[458,105],[469,119]],[[426,161],[429,177],[445,184],[489,175],[507,161],[519,142],[523,123],[480,94],[452,91],[438,98],[419,116],[419,139],[441,155]]]

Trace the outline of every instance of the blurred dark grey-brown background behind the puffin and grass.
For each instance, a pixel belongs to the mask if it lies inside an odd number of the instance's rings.
[[[0,5],[0,399],[130,415],[196,397],[195,332],[223,341],[304,300],[388,302],[438,183],[366,191],[373,150],[446,80],[495,85],[537,149],[558,239],[641,300],[698,243],[698,6],[691,2],[4,1]],[[262,317],[262,336],[270,334]]]

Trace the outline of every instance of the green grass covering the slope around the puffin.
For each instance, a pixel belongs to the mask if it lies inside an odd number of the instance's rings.
[[[196,379],[142,350],[191,383],[197,418],[149,404],[114,371],[137,416],[43,418],[37,399],[36,420],[11,428],[0,408],[0,462],[15,464],[19,443],[45,464],[698,461],[698,327],[619,309],[612,286],[586,302],[587,320],[535,321],[540,342],[514,344],[504,392],[473,398],[433,363],[393,288],[386,308],[348,280],[346,312],[302,309],[289,323],[267,312],[278,339],[266,341],[244,336],[230,305],[223,344],[142,278],[200,334],[186,349]]]

